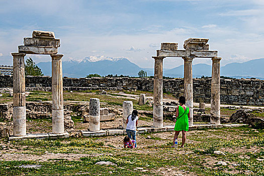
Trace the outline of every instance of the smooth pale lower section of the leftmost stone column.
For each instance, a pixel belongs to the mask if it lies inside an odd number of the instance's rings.
[[[26,136],[26,106],[13,107],[13,122],[14,136]]]

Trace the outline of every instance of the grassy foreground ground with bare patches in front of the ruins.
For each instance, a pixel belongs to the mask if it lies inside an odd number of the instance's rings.
[[[190,131],[174,149],[169,132],[124,136],[1,141],[1,175],[263,175],[264,131],[247,127]],[[180,136],[181,138],[181,136]],[[181,140],[181,139],[180,139]],[[223,154],[214,154],[220,150]],[[96,165],[111,161],[116,165]],[[227,165],[217,164],[223,161]],[[36,164],[39,168],[23,168]]]

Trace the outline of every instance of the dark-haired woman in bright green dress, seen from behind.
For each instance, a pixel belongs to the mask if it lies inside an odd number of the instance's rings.
[[[189,119],[190,118],[190,111],[187,106],[185,106],[185,97],[180,97],[179,103],[180,106],[176,109],[176,123],[174,127],[174,137],[173,137],[173,146],[176,139],[178,139],[178,135],[182,131],[183,138],[182,138],[182,145],[181,147],[184,147],[184,143],[186,141],[186,132],[189,130]]]

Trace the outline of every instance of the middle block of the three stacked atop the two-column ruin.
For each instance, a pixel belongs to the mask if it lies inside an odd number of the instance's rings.
[[[24,38],[24,45],[60,47],[60,39]]]

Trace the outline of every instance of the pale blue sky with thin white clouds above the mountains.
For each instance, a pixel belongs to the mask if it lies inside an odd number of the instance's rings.
[[[153,67],[162,42],[183,43],[190,37],[209,38],[222,65],[262,58],[263,0],[142,0],[142,1],[5,1],[0,0],[0,65],[12,64],[33,30],[53,31],[61,40],[63,60],[87,56],[126,57]],[[50,56],[31,56],[36,63]],[[196,63],[211,64],[197,58]],[[164,59],[164,68],[183,64]]]

